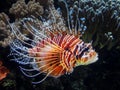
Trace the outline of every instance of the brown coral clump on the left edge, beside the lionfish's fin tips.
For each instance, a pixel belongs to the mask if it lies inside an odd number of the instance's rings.
[[[9,21],[9,17],[5,13],[0,13],[0,45],[2,47],[8,46],[14,38],[10,32],[7,20]]]

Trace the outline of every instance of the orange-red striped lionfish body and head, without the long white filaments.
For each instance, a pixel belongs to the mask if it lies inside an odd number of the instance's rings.
[[[39,70],[50,76],[69,74],[74,67],[91,63],[97,55],[91,44],[84,43],[72,34],[62,32],[50,33],[48,36],[28,52],[35,58]]]

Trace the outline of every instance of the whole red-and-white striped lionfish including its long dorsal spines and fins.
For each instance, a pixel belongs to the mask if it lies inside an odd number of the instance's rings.
[[[10,45],[10,55],[14,57],[12,60],[21,64],[20,70],[27,77],[35,78],[44,74],[42,79],[33,81],[33,84],[41,83],[49,76],[58,78],[70,74],[75,67],[98,60],[98,54],[92,44],[80,39],[86,26],[82,23],[85,18],[79,18],[79,7],[77,11],[73,8],[69,10],[66,1],[61,2],[66,7],[68,28],[61,28],[56,23],[51,8],[49,9],[53,20],[45,20],[43,17],[36,19],[32,16],[21,21],[25,32],[29,32],[31,37],[23,34],[16,24],[9,23],[12,33],[16,36]],[[42,24],[36,26],[37,20],[41,20]]]

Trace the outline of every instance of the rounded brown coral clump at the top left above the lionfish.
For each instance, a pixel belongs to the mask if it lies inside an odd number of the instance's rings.
[[[35,0],[25,3],[25,0],[18,0],[12,5],[9,12],[15,15],[15,19],[34,15],[36,17],[43,14],[43,7]]]

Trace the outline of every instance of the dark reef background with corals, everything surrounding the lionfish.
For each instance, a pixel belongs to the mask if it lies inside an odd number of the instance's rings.
[[[0,0],[0,78],[4,77],[0,90],[120,90],[120,0],[66,0],[68,8],[77,10],[78,1],[79,17],[84,17],[87,27],[81,38],[92,41],[99,60],[75,68],[70,75],[48,77],[33,85],[32,79],[22,74],[19,64],[10,60],[9,45],[15,37],[7,20],[16,23],[31,15],[51,19],[48,10],[51,7],[54,12],[60,8],[66,22],[65,5],[61,0]],[[59,16],[54,14],[59,22]]]

